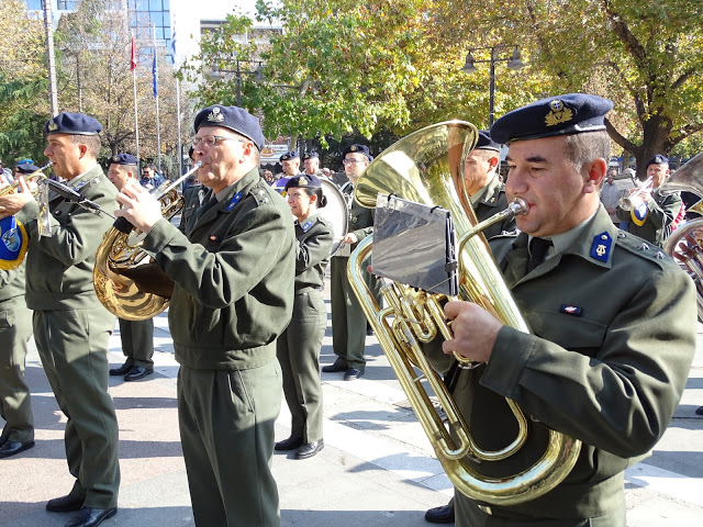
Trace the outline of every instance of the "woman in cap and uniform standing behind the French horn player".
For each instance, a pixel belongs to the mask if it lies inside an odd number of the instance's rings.
[[[286,199],[297,220],[295,299],[293,317],[278,339],[277,355],[292,423],[290,437],[275,448],[295,450],[295,459],[308,459],[324,448],[320,349],[327,327],[327,310],[322,289],[333,233],[330,222],[317,213],[327,199],[316,176],[291,178],[286,183]]]

